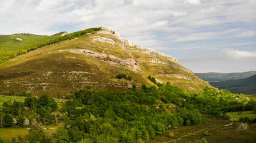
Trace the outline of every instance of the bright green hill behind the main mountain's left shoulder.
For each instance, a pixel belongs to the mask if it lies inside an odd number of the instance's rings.
[[[47,41],[58,38],[64,33],[60,32],[52,36],[28,33],[0,35],[0,63],[24,54]]]

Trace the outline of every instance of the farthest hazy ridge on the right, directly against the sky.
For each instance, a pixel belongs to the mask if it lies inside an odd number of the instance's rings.
[[[222,80],[234,80],[234,79],[245,79],[253,76],[256,71],[247,71],[243,73],[195,73],[196,76],[200,77],[207,82],[219,82]]]

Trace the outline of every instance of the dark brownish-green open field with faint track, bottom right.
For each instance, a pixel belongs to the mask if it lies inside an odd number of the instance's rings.
[[[162,135],[156,135],[149,140],[153,142],[197,142],[198,139],[206,138],[207,142],[255,142],[256,124],[246,124],[249,128],[240,130],[244,123],[229,120],[213,119],[206,116],[206,122],[201,125],[181,126],[177,129],[165,130]],[[228,126],[227,126],[228,125]],[[170,136],[170,133],[174,136]]]

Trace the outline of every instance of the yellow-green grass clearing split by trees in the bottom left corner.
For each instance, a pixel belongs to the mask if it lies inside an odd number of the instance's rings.
[[[46,135],[52,135],[61,125],[43,125],[41,128],[54,128],[54,129],[44,129]],[[26,128],[0,128],[0,138],[4,140],[4,142],[11,142],[13,137],[22,136],[23,139],[26,139],[26,135],[28,135],[29,129]]]

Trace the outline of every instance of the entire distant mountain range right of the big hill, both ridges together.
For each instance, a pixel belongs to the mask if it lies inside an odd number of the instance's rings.
[[[195,73],[210,85],[236,94],[256,95],[256,71],[244,73]]]

